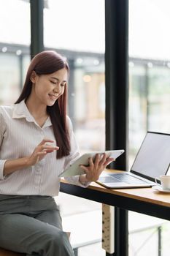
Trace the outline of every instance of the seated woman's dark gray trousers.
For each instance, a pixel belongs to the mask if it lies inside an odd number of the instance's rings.
[[[74,256],[50,196],[0,195],[0,247],[26,255]]]

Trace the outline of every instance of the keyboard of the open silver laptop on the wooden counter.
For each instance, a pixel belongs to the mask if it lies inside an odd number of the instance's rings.
[[[114,182],[117,180],[120,182],[125,182],[128,184],[148,184],[149,182],[147,181],[142,181],[140,178],[135,178],[131,175],[125,174],[125,173],[114,173],[114,174],[109,174],[112,176],[114,179]],[[112,181],[113,182],[113,181]]]

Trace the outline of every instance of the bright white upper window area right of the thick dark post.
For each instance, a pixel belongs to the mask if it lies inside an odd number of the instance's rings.
[[[129,0],[129,55],[170,60],[169,0]]]

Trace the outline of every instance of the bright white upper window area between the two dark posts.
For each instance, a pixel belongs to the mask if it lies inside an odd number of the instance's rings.
[[[104,53],[104,0],[49,0],[45,46]]]

